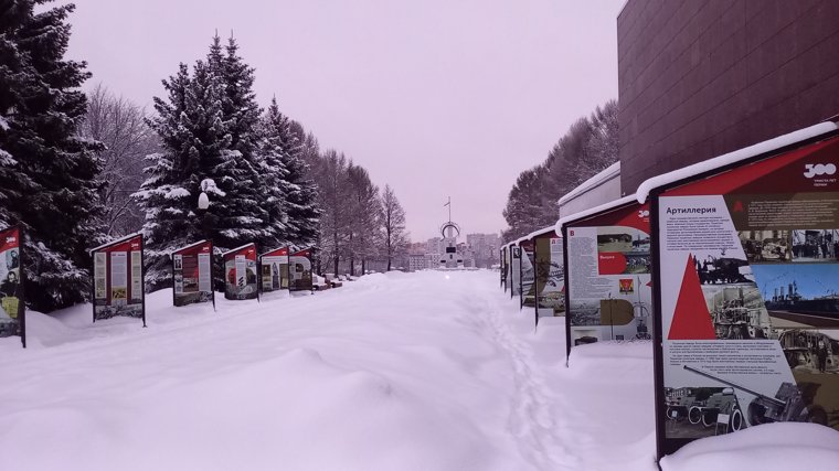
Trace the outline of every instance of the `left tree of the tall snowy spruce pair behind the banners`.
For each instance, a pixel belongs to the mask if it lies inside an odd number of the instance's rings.
[[[198,238],[217,239],[223,207],[211,204],[205,214],[198,214],[201,182],[227,179],[231,152],[230,133],[222,120],[221,84],[205,63],[198,62],[194,76],[185,64],[163,81],[168,100],[155,97],[157,116],[149,125],[161,140],[162,152],[147,157],[148,178],[135,194],[146,211],[146,281],[159,288],[171,276],[168,254]],[[219,186],[209,189],[213,201],[227,194]]]

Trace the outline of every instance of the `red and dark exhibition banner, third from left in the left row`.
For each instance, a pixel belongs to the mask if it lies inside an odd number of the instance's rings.
[[[213,243],[201,240],[172,253],[172,299],[174,306],[212,301]]]

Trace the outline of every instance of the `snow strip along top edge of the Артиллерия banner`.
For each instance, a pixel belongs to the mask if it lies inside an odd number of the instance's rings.
[[[661,188],[670,183],[678,182],[680,180],[684,180],[690,176],[694,176],[708,171],[712,171],[714,169],[719,169],[732,163],[741,162],[743,160],[751,159],[762,153],[772,152],[773,150],[792,146],[796,142],[801,142],[807,139],[835,131],[837,129],[839,129],[839,126],[837,126],[836,122],[832,122],[832,121],[819,122],[818,125],[814,125],[804,129],[798,129],[796,131],[782,135],[782,136],[765,140],[763,142],[757,142],[755,144],[744,147],[742,149],[737,149],[729,153],[723,153],[722,156],[703,160],[692,165],[683,167],[681,169],[677,169],[671,172],[662,173],[660,175],[649,178],[645,180],[644,182],[641,182],[641,184],[638,185],[638,190],[636,191],[635,195],[638,199],[638,203],[644,204],[647,202],[647,199],[649,197],[650,192],[652,192],[652,190],[657,188]]]

